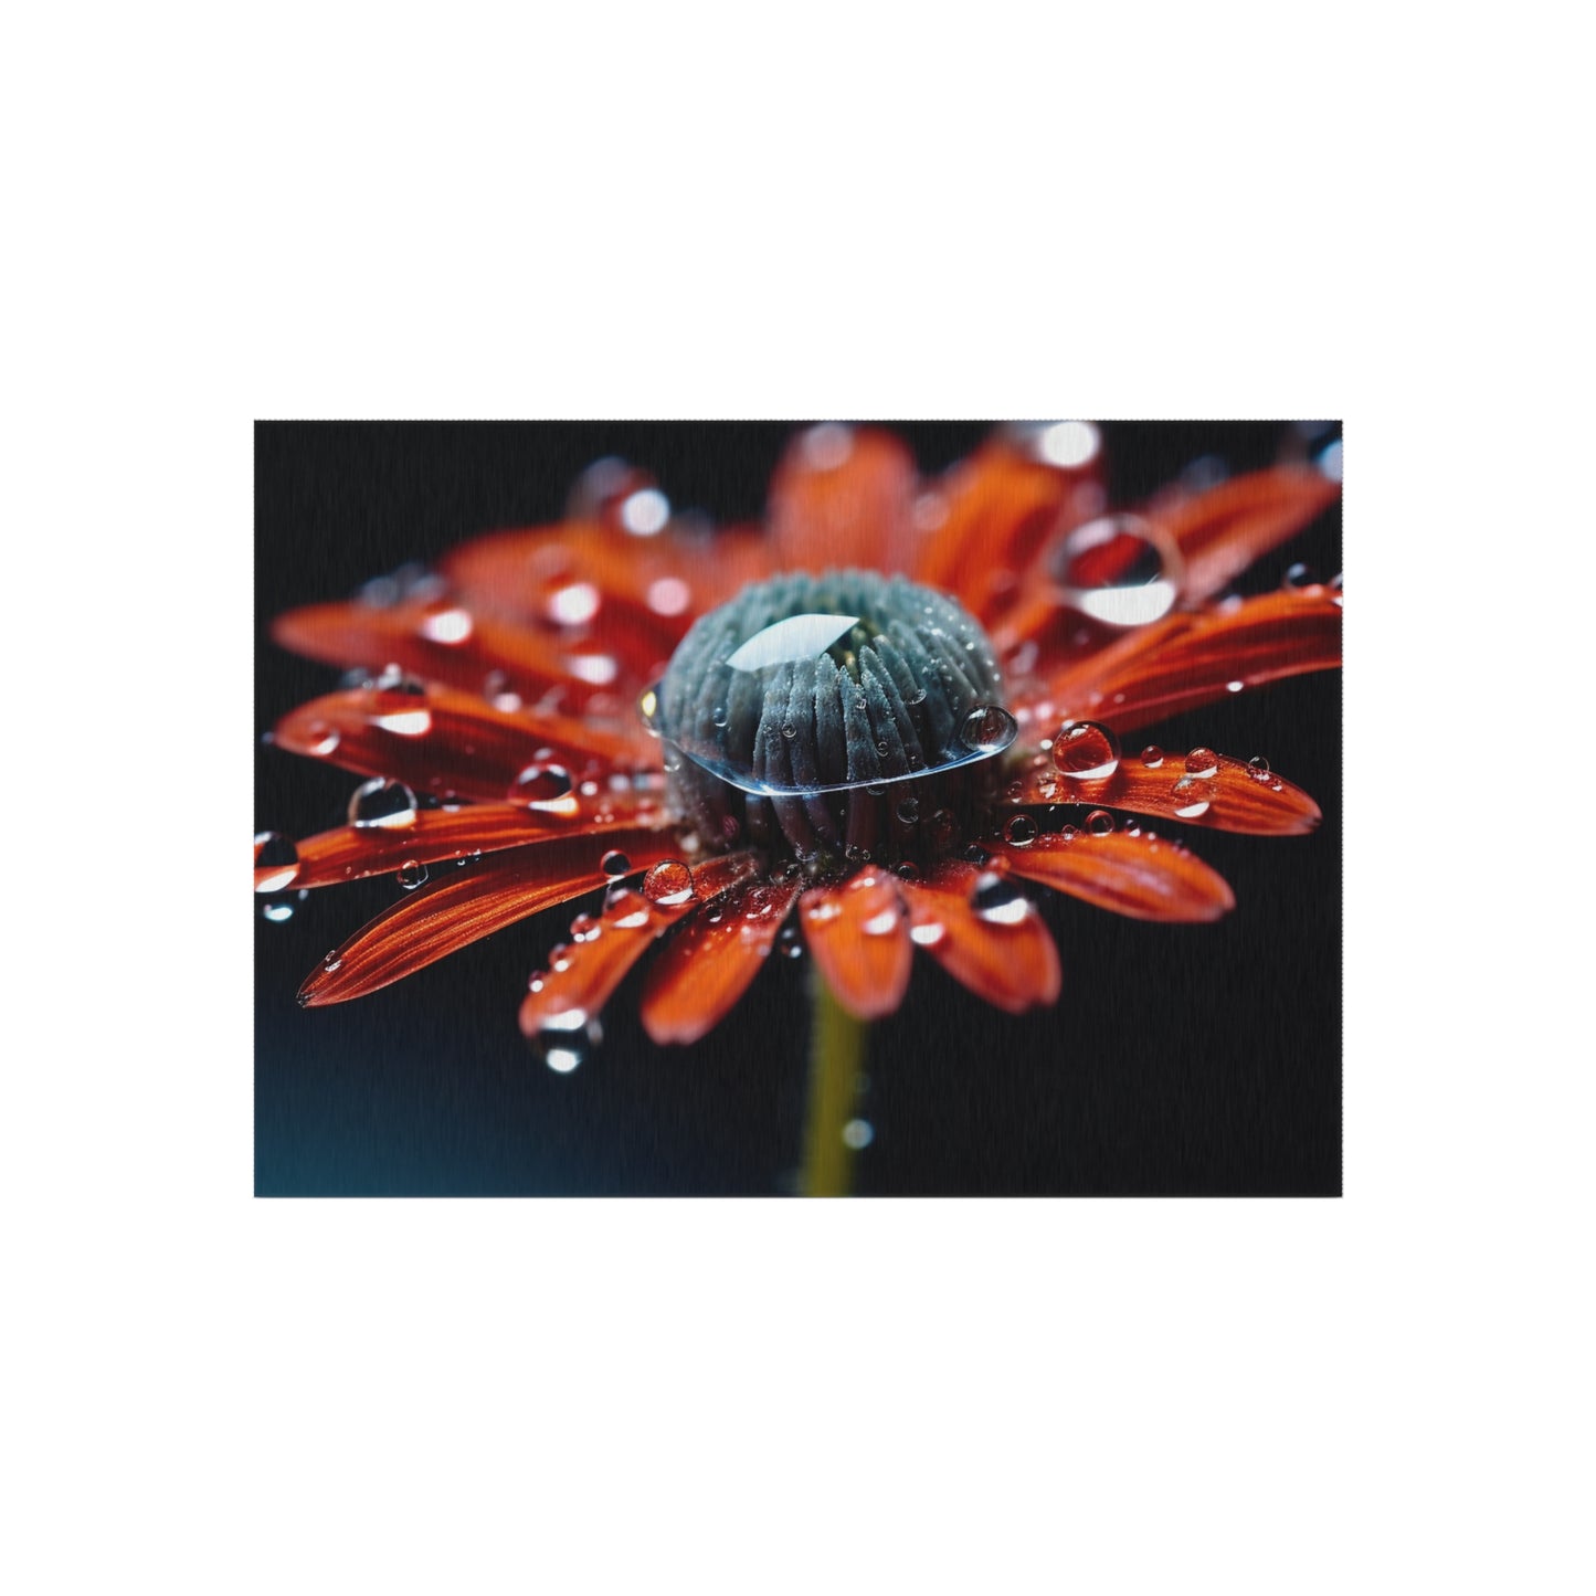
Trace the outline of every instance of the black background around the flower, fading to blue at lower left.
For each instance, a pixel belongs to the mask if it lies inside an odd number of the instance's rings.
[[[926,472],[990,428],[895,426]],[[292,605],[350,595],[496,527],[559,519],[600,455],[651,469],[678,509],[758,516],[793,423],[262,423],[255,444],[259,737],[338,672],[267,638]],[[1285,423],[1106,423],[1111,498],[1144,498],[1208,456],[1232,472],[1304,447]],[[1312,448],[1339,436],[1325,423]],[[1339,511],[1237,584],[1293,560],[1341,570]],[[876,1140],[863,1194],[1314,1194],[1341,1191],[1341,678],[1243,693],[1135,733],[1269,757],[1320,801],[1310,838],[1189,828],[1234,886],[1218,926],[1151,926],[1033,889],[1065,970],[1058,1005],[1010,1018],[916,958],[902,1012],[873,1028],[860,1112]],[[1127,750],[1128,752],[1128,750]],[[270,747],[255,828],[340,824],[358,784]],[[1171,830],[1160,824],[1159,830]],[[255,1189],[262,1195],[776,1194],[804,1108],[808,961],[772,959],[691,1049],[635,1017],[642,967],[603,1015],[605,1044],[560,1076],[516,1026],[527,975],[573,903],[370,998],[302,1010],[319,958],[396,895],[389,881],[255,915]],[[243,913],[243,908],[239,910]]]

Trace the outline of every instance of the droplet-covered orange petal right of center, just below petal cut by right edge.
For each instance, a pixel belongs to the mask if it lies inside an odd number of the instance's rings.
[[[1210,769],[1211,776],[1200,774]],[[1036,766],[1010,784],[1005,796],[1018,806],[1103,804],[1254,836],[1304,836],[1323,819],[1318,804],[1301,787],[1267,766],[1256,769],[1223,753],[1202,758],[1191,769],[1181,753],[1163,753],[1152,768],[1130,755],[1101,782],[1069,780],[1039,755]]]

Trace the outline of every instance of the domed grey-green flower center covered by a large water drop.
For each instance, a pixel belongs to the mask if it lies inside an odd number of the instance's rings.
[[[875,571],[779,576],[702,616],[645,717],[705,847],[785,844],[814,871],[946,852],[1015,736],[980,626]]]

